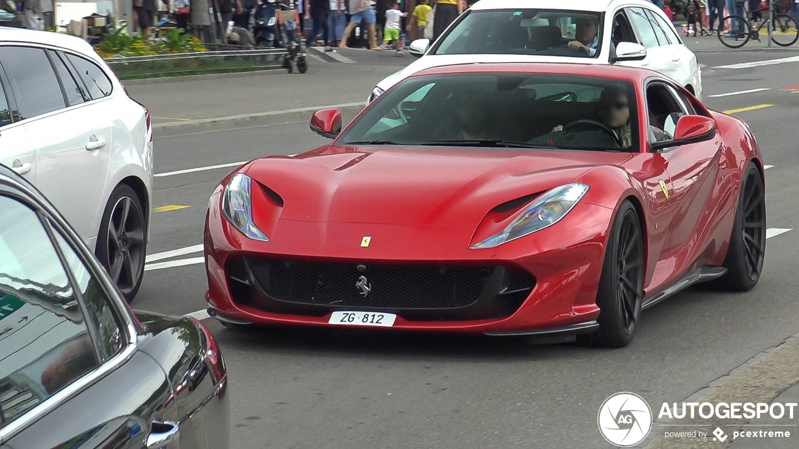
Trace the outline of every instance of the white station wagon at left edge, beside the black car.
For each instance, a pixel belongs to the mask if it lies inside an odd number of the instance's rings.
[[[0,28],[0,164],[58,207],[125,299],[136,295],[152,208],[153,130],[147,109],[91,45]]]

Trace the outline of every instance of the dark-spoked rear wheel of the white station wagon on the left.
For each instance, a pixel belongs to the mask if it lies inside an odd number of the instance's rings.
[[[127,184],[118,185],[105,204],[94,252],[128,302],[136,297],[144,278],[146,226],[136,192]]]

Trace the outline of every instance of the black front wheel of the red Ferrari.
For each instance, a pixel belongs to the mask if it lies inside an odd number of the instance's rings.
[[[623,280],[622,280],[623,279]],[[633,341],[644,296],[644,241],[629,200],[618,208],[599,278],[599,329],[580,336],[589,345],[622,348]]]

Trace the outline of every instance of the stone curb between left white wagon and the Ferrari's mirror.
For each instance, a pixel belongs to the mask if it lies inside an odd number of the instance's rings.
[[[283,111],[268,111],[256,114],[241,114],[238,116],[211,117],[180,122],[153,124],[153,134],[157,137],[180,136],[194,132],[223,131],[235,128],[249,128],[269,124],[284,124],[310,120],[313,112],[326,108],[364,108],[364,101],[343,104],[328,104],[325,106],[311,106],[308,108],[286,109]],[[357,111],[355,111],[357,112]]]

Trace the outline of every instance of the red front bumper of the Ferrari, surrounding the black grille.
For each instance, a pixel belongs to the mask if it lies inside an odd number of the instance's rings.
[[[396,313],[397,317],[392,328],[382,329],[527,335],[590,332],[596,325],[599,314],[595,304],[596,293],[608,223],[613,215],[613,211],[606,207],[580,203],[555,226],[496,248],[470,250],[467,244],[457,242],[463,230],[420,230],[409,229],[413,226],[407,225],[369,223],[280,223],[277,228],[283,235],[276,234],[270,242],[256,242],[244,238],[222,219],[217,204],[218,198],[212,197],[205,226],[205,259],[209,280],[206,300],[209,313],[221,321],[255,325],[331,326],[328,319],[332,311],[364,309],[331,304],[282,309],[273,307],[279,305],[280,301],[269,297],[255,285],[257,282],[252,278],[252,272],[247,274],[249,279],[243,279],[251,282],[247,288],[262,299],[265,297],[272,305],[264,306],[259,301],[240,301],[240,294],[236,291],[240,286],[230,279],[229,263],[247,258],[269,258],[367,266],[408,263],[497,266],[523,270],[535,278],[531,289],[523,293],[518,304],[510,309],[498,313],[477,313],[471,318],[468,313],[445,316],[439,309],[419,311],[384,307],[380,310]],[[372,234],[373,241],[380,239],[385,242],[384,247],[364,257],[364,250],[357,245],[342,244],[352,242],[352,238],[364,233]],[[444,237],[447,234],[451,238]],[[360,242],[360,238],[357,241]],[[357,294],[354,286],[353,294]]]

